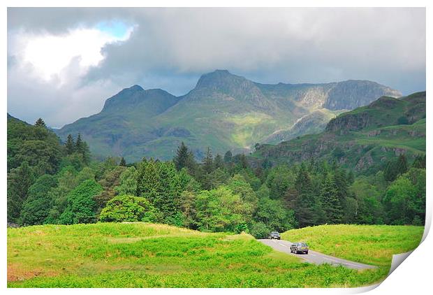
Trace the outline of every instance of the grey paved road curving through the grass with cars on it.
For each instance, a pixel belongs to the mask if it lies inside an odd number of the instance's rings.
[[[367,268],[377,268],[377,266],[360,264],[358,262],[332,257],[312,250],[309,250],[308,254],[294,254],[290,252],[290,246],[292,245],[292,243],[289,242],[288,240],[259,240],[259,241],[265,245],[274,248],[274,250],[284,252],[289,255],[294,255],[296,257],[300,257],[312,264],[332,264],[335,266],[342,265],[342,266],[346,266],[347,268],[354,268],[358,270],[367,269]]]

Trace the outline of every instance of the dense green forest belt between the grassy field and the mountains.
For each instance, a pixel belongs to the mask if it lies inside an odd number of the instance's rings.
[[[425,156],[400,154],[376,173],[337,161],[252,165],[244,154],[202,161],[181,143],[171,161],[92,159],[80,134],[8,117],[8,225],[154,222],[210,232],[318,224],[425,223]]]

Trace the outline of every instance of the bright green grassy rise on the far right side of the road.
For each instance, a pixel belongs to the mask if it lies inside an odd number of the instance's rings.
[[[281,238],[306,242],[324,254],[390,267],[392,255],[418,247],[423,232],[423,226],[337,224],[293,229]]]

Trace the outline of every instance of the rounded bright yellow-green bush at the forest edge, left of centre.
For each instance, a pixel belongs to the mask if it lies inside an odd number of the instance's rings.
[[[115,196],[99,215],[101,222],[155,222],[157,213],[147,199],[140,196]]]

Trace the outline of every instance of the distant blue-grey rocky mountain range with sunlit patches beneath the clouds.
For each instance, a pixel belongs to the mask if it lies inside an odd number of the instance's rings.
[[[100,113],[56,132],[62,139],[82,134],[101,157],[170,159],[184,141],[200,158],[207,146],[214,154],[248,152],[256,143],[320,132],[343,109],[383,95],[401,96],[369,81],[270,85],[217,70],[202,75],[184,96],[138,85],[123,89],[105,101]]]

